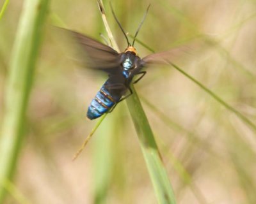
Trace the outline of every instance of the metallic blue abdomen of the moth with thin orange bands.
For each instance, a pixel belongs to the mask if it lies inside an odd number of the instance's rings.
[[[106,90],[104,85],[101,87],[100,91],[97,92],[95,98],[93,98],[88,111],[87,117],[90,120],[97,119],[104,113],[108,112],[117,101]]]

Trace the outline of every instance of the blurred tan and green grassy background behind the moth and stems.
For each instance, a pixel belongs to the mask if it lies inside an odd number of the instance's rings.
[[[256,123],[256,1],[111,3],[132,35],[151,4],[138,40],[156,52],[189,44],[194,38],[207,43],[207,48],[196,47],[195,53],[174,62]],[[0,21],[0,124],[22,4],[10,1]],[[104,5],[115,39],[124,50],[125,38],[109,1]],[[72,59],[72,48],[64,45],[51,25],[65,25],[99,41],[99,33],[106,36],[96,1],[51,1],[15,188],[28,203],[156,203],[125,102],[106,117],[72,162],[96,124],[86,119],[86,111],[106,76],[81,68]],[[150,54],[140,43],[135,47],[140,57]],[[171,66],[149,68],[136,90],[177,203],[256,203],[255,131]],[[9,196],[6,203],[17,200]]]

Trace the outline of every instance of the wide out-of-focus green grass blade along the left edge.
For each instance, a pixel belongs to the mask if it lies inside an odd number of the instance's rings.
[[[11,179],[24,140],[25,115],[49,0],[26,0],[13,47],[0,141],[0,182]],[[5,196],[0,187],[0,203]]]

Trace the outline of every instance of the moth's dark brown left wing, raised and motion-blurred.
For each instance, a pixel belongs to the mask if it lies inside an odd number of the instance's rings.
[[[113,48],[93,40],[88,36],[84,36],[76,31],[66,30],[71,34],[77,47],[80,58],[85,59],[86,66],[92,69],[106,71],[108,74],[115,74],[120,68],[121,54]]]

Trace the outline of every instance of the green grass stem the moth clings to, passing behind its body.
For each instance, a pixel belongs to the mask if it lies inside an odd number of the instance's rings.
[[[119,50],[115,43],[115,39],[113,38],[113,34],[109,29],[104,8],[102,6],[102,1],[98,0],[98,3],[109,39],[112,41],[112,45],[116,46],[114,46],[113,48]],[[136,94],[136,91],[134,90],[134,87],[132,85],[131,89],[133,94],[127,99],[127,105],[129,108],[129,112],[131,113],[137,135],[140,139],[141,150],[147,164],[148,172],[156,193],[157,201],[158,203],[166,204],[175,203],[173,189],[170,184],[168,174],[166,173],[166,170],[164,168],[163,161],[161,160],[161,155],[159,153],[159,150],[157,149],[154,135],[148,123],[145,112],[143,111],[143,108],[141,106],[140,99],[138,98],[138,95]]]

